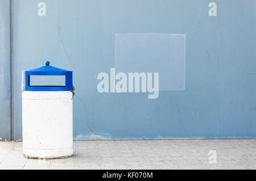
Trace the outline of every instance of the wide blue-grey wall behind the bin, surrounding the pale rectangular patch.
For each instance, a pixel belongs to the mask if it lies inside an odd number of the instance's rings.
[[[256,137],[256,1],[214,1],[217,16],[205,0],[42,0],[46,16],[39,2],[14,1],[15,140],[21,71],[46,60],[73,70],[75,138]],[[116,33],[185,34],[185,90],[100,94]]]

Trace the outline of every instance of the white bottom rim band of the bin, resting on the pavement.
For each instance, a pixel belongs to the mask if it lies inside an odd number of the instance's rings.
[[[25,158],[30,159],[69,158],[73,155],[73,148],[56,150],[33,150],[23,148],[23,155]]]

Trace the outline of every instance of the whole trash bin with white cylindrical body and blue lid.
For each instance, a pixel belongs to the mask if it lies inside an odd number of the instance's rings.
[[[32,76],[44,78],[47,75],[63,75],[65,85],[32,85]],[[48,61],[46,66],[22,71],[24,157],[51,159],[72,156],[72,99],[72,71],[50,66]]]

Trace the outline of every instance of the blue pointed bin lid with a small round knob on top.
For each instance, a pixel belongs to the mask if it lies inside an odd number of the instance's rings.
[[[30,86],[30,75],[65,75],[65,86]],[[22,71],[23,91],[72,91],[72,89],[72,71],[50,66],[49,61],[45,66]]]

